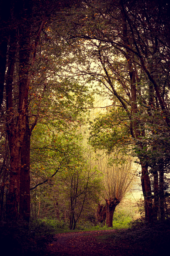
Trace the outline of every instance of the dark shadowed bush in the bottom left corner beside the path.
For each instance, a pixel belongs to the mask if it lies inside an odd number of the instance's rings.
[[[52,241],[54,229],[42,221],[0,224],[1,252],[4,255],[43,256],[45,247]]]

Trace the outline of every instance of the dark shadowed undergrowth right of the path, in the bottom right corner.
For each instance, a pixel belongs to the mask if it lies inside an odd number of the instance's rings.
[[[100,236],[98,240],[117,246],[121,255],[166,255],[170,244],[170,222],[157,221],[153,225],[145,223],[143,226],[141,223],[140,220],[135,221],[129,229]]]

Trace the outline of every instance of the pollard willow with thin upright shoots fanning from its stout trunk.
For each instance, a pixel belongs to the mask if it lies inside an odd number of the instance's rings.
[[[101,223],[106,219],[106,225],[112,227],[115,208],[130,191],[136,170],[132,167],[132,158],[121,151],[103,155],[99,159],[99,168],[103,173],[102,198],[105,203],[99,201],[96,217]]]

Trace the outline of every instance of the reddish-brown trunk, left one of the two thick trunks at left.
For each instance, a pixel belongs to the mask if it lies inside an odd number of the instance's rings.
[[[23,115],[18,115],[15,124],[16,116],[13,110],[13,74],[14,74],[14,58],[17,42],[14,40],[15,33],[11,32],[8,56],[8,69],[6,76],[6,122],[7,134],[10,148],[10,185],[7,197],[7,219],[18,220],[18,207],[20,200],[20,169],[21,169],[21,144],[24,137],[24,130],[21,127],[24,125]],[[22,121],[21,121],[22,120]]]

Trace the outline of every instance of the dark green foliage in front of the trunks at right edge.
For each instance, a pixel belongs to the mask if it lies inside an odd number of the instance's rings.
[[[160,116],[156,116],[156,113],[153,113],[152,118],[148,119],[149,120],[145,122],[145,136],[141,136],[138,140],[133,139],[136,142],[136,146],[133,147],[133,153],[137,155],[143,163],[149,165],[151,173],[160,171],[160,168],[163,166],[164,172],[166,173],[170,169],[169,128],[164,124],[164,119]],[[139,146],[139,143],[142,147]]]

